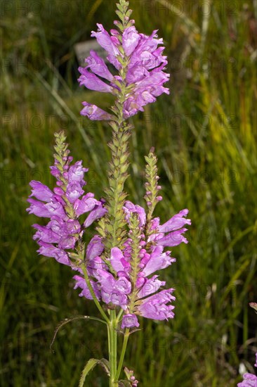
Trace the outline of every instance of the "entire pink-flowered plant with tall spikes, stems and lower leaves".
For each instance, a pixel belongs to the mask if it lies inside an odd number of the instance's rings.
[[[105,199],[85,193],[84,175],[88,170],[81,161],[72,164],[65,134],[60,132],[55,134],[55,162],[51,167],[56,186],[51,191],[41,182],[32,181],[27,209],[39,217],[50,218],[46,226],[33,226],[37,230],[34,239],[39,243],[38,253],[74,270],[74,288],[80,289],[79,296],[93,300],[100,312],[100,318],[88,319],[107,326],[109,359],[89,360],[79,386],[84,385],[86,375],[96,364],[101,364],[110,376],[110,386],[137,386],[133,372],[126,367],[126,380],[119,380],[126,345],[140,326],[138,317],[174,317],[174,289],[164,288],[166,282],[155,273],[176,262],[166,248],[187,243],[185,226],[190,224],[187,209],[164,224],[153,216],[162,200],[154,148],[145,157],[145,208],[126,200],[124,184],[129,177],[129,137],[133,130],[128,119],[156,101],[157,96],[169,94],[164,87],[169,74],[165,72],[167,60],[157,31],[147,36],[136,30],[128,1],[119,0],[116,12],[116,29],[109,34],[98,24],[98,31],[91,35],[107,52],[112,72],[95,51],[86,58],[86,66],[79,68],[81,86],[111,93],[115,98],[110,112],[86,101],[81,110],[81,115],[89,120],[107,120],[112,128]],[[94,236],[85,243],[84,234],[92,224]],[[119,359],[118,333],[124,336]]]

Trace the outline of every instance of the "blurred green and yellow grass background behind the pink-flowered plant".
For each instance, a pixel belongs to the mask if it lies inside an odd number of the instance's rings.
[[[170,96],[131,118],[131,177],[143,204],[143,156],[154,146],[167,220],[190,209],[190,243],[173,248],[161,273],[176,288],[176,316],[140,320],[125,364],[142,387],[236,386],[239,363],[256,351],[256,1],[131,1],[140,32],[159,29]],[[205,7],[205,8],[204,8]],[[53,133],[65,129],[75,159],[90,168],[88,190],[103,196],[110,127],[81,118],[81,101],[112,100],[79,88],[74,44],[95,23],[112,27],[115,1],[1,1],[0,384],[77,386],[90,357],[107,357],[97,315],[73,291],[68,267],[38,256],[27,215],[29,181],[53,186]],[[93,229],[91,230],[93,233]],[[119,338],[121,341],[121,337]],[[107,386],[94,369],[88,386]]]

